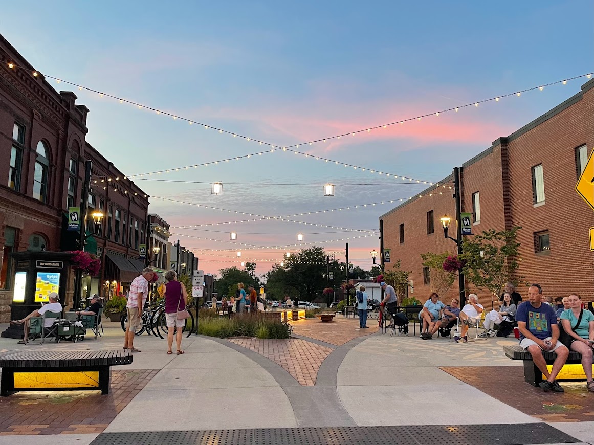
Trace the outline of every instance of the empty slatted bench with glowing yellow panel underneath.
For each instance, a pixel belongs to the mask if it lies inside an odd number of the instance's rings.
[[[0,396],[18,391],[97,390],[109,394],[110,367],[132,363],[115,351],[8,351],[0,354]]]

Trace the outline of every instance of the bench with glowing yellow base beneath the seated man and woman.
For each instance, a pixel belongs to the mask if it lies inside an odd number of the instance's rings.
[[[544,380],[541,370],[539,370],[532,361],[532,355],[530,352],[522,349],[520,345],[504,346],[503,350],[505,351],[505,355],[512,360],[524,361],[524,380],[526,380],[528,383],[533,386],[538,386],[538,384]],[[555,358],[557,358],[557,354],[554,352],[545,351],[543,356],[550,372],[552,370],[552,364],[555,361]],[[586,380],[586,374],[584,374],[584,369],[582,368],[582,354],[579,354],[579,352],[575,351],[569,352],[569,356],[567,361],[565,361],[565,365],[563,368],[561,368],[561,372],[557,375],[557,380]]]

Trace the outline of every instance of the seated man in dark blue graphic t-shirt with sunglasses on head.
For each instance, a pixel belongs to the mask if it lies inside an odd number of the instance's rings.
[[[539,386],[544,392],[563,393],[564,390],[557,383],[555,377],[563,368],[569,350],[559,339],[557,315],[548,304],[542,302],[542,288],[533,284],[528,288],[528,301],[520,304],[516,312],[516,321],[520,331],[520,346],[532,355],[532,361],[545,375],[546,380]],[[554,351],[557,354],[551,373],[546,368],[546,361],[542,351]]]

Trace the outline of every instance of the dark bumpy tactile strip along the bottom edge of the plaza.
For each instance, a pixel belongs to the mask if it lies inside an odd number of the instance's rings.
[[[544,423],[103,433],[91,445],[530,445],[578,440]]]

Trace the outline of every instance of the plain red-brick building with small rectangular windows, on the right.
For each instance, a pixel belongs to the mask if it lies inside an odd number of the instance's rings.
[[[462,212],[473,213],[473,233],[522,226],[518,276],[541,283],[553,298],[576,291],[586,301],[594,299],[594,253],[588,235],[594,213],[575,191],[594,146],[593,87],[594,80],[588,81],[579,93],[498,138],[460,169]],[[391,248],[393,261],[401,260],[403,270],[412,271],[409,295],[421,301],[428,298],[431,285],[420,254],[456,252],[440,224],[444,214],[455,217],[452,183],[453,176],[448,176],[440,187],[430,187],[419,193],[422,197],[380,216],[384,247]],[[455,226],[450,232],[455,237]],[[472,290],[470,283],[466,288]],[[458,292],[455,282],[443,297]],[[523,286],[519,292],[526,295]],[[478,294],[490,299],[485,292]]]

